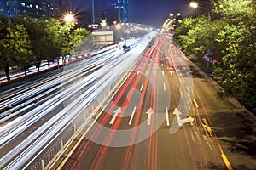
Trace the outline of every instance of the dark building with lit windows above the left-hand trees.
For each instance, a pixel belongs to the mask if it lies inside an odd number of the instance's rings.
[[[70,10],[70,0],[0,0],[0,13],[9,17],[18,14],[32,18],[59,18]],[[3,11],[3,12],[1,12]]]

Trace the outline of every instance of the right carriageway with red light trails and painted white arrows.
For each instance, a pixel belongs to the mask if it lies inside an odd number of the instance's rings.
[[[62,168],[225,168],[218,140],[194,121],[189,65],[165,41],[155,38]]]

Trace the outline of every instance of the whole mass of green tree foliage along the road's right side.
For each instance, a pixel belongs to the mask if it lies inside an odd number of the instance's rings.
[[[201,59],[207,49],[221,62],[215,68],[224,95],[240,100],[256,112],[256,1],[212,0],[218,18],[188,18],[175,32],[176,42],[187,54]]]

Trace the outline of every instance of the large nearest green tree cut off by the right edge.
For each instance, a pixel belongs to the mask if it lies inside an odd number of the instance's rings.
[[[215,10],[227,23],[218,35],[218,41],[226,44],[218,82],[224,86],[225,95],[239,99],[256,112],[255,1],[219,0],[217,3],[225,7],[216,6]]]

